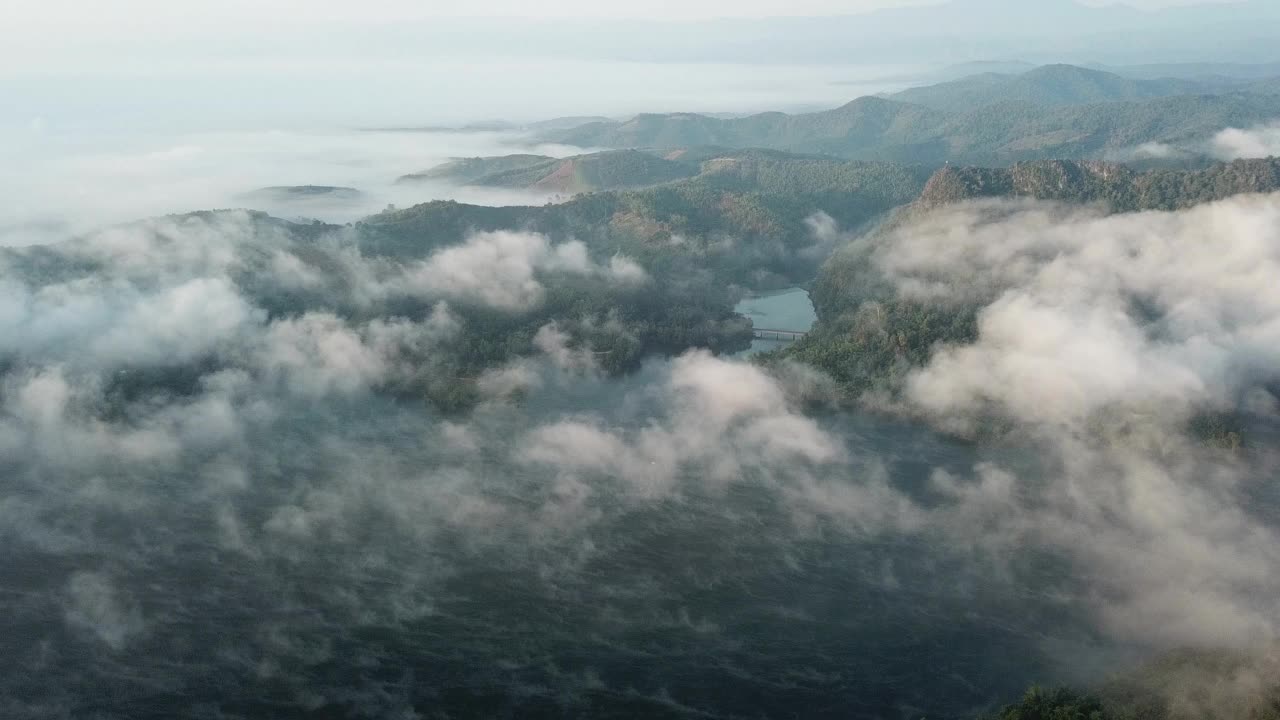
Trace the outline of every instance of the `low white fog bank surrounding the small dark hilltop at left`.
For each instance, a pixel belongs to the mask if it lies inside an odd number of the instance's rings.
[[[282,218],[348,223],[388,204],[429,200],[543,204],[554,196],[448,182],[397,183],[453,156],[579,149],[531,143],[515,132],[246,131],[81,135],[31,128],[4,158],[0,245],[55,242],[140,218],[248,208]],[[280,186],[333,186],[355,193],[253,193]]]

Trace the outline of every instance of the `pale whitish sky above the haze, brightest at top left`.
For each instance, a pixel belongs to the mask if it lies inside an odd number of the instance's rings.
[[[384,26],[388,23],[438,23],[483,18],[512,20],[538,18],[554,20],[618,20],[698,22],[722,18],[781,18],[856,15],[874,10],[936,5],[942,0],[657,0],[652,3],[598,3],[591,0],[549,0],[532,5],[521,0],[480,0],[475,3],[415,3],[411,0],[275,0],[256,3],[228,0],[211,3],[168,3],[164,0],[119,0],[92,3],[86,0],[9,0],[0,10],[0,77],[31,72],[67,72],[93,69],[106,61],[118,65],[123,58],[142,49],[154,55],[174,58],[189,55],[197,44],[221,36],[232,40],[229,49],[253,55],[288,51],[297,45],[291,36],[306,33],[308,50],[342,51],[360,45],[349,37],[352,23]],[[961,0],[983,9],[1023,6],[1010,0]],[[1231,0],[1130,0],[1129,6],[1143,10],[1222,3]],[[1082,5],[1114,5],[1110,0],[1083,0]],[[530,8],[536,8],[531,12]],[[271,35],[264,37],[260,33]],[[335,41],[332,33],[344,33]],[[271,37],[274,36],[274,37]],[[280,47],[270,47],[273,40]],[[220,42],[212,42],[216,50]],[[237,47],[238,45],[238,47]],[[298,50],[298,47],[292,47]],[[316,54],[316,53],[312,53]]]

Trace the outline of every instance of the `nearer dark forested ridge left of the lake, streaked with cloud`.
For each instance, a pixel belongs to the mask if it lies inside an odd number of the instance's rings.
[[[184,238],[192,234],[220,232],[233,238],[218,247],[229,263],[229,277],[244,297],[268,313],[266,320],[326,314],[357,323],[440,318],[456,325],[447,346],[431,348],[429,364],[422,360],[420,372],[402,378],[399,387],[383,388],[424,397],[445,410],[472,405],[476,382],[486,370],[545,351],[548,342],[576,352],[581,365],[607,373],[635,369],[648,354],[677,354],[690,347],[728,352],[750,342],[750,323],[732,311],[737,291],[731,286],[694,282],[701,277],[696,270],[649,273],[614,252],[581,260],[570,252],[564,263],[536,266],[539,254],[573,247],[547,243],[539,236],[522,241],[535,263],[532,275],[522,282],[538,284],[530,286],[535,292],[524,292],[517,307],[408,287],[415,273],[430,269],[445,245],[457,247],[477,229],[468,224],[452,241],[442,238],[438,245],[421,243],[412,251],[401,247],[398,254],[387,255],[361,251],[365,228],[289,223],[261,213],[202,211],[110,228],[52,246],[0,249],[0,268],[38,295],[45,287],[119,272],[101,247],[123,233],[143,238],[163,256],[180,254]],[[291,265],[288,273],[305,282],[282,282],[280,258],[297,259],[298,265]],[[416,355],[413,348],[408,352]],[[189,378],[163,366],[136,368],[119,382],[124,383],[122,392],[125,386],[156,384],[184,392],[186,383],[224,363],[234,364],[234,359],[206,357]]]

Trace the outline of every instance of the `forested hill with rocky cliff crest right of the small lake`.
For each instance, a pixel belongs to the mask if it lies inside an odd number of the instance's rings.
[[[818,323],[783,355],[820,368],[850,396],[893,392],[938,343],[977,338],[983,301],[933,302],[899,297],[868,252],[919,215],[972,199],[1028,197],[1097,204],[1110,211],[1175,210],[1248,192],[1280,191],[1280,159],[1238,160],[1204,170],[1138,173],[1121,165],[1052,160],[1007,169],[948,167],[934,173],[920,199],[863,242],[831,256],[813,283]]]

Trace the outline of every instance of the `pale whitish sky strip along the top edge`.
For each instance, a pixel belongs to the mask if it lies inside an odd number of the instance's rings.
[[[1142,10],[1158,10],[1190,4],[1213,4],[1231,0],[1130,0],[1125,5]],[[228,0],[224,3],[163,0],[119,0],[91,3],[86,0],[9,0],[0,9],[0,78],[41,73],[65,73],[128,68],[129,61],[189,63],[192,56],[233,56],[251,61],[261,56],[343,56],[349,51],[421,54],[435,53],[435,46],[453,51],[448,37],[434,32],[449,23],[461,22],[457,32],[470,45],[484,46],[477,28],[492,29],[524,18],[540,23],[516,24],[522,33],[538,32],[541,40],[529,45],[539,53],[561,53],[563,45],[586,42],[589,38],[547,35],[548,24],[563,22],[700,22],[709,19],[803,18],[824,15],[858,15],[874,10],[904,9],[945,4],[942,0],[658,0],[653,3],[598,3],[590,0],[549,0],[536,5],[520,0],[480,0],[475,3],[415,3],[411,0],[276,0],[256,3]],[[1068,0],[1027,4],[1012,0],[956,0],[972,6],[965,14],[1000,24],[1006,15],[1048,18]],[[1115,5],[1110,0],[1082,0],[1080,5]],[[530,8],[536,8],[536,13]],[[477,19],[489,26],[466,24]],[[908,20],[919,24],[919,19]],[[379,27],[376,38],[361,38],[353,24]],[[406,35],[421,37],[424,44],[397,44],[388,26],[399,26]],[[1101,29],[1101,28],[1100,28]],[[593,27],[598,32],[599,27]],[[605,32],[614,32],[608,28]],[[641,32],[641,35],[645,35]],[[547,40],[548,37],[553,40]],[[365,44],[367,40],[367,45]],[[662,55],[667,38],[652,40],[653,56]],[[635,41],[635,38],[628,38]],[[388,42],[392,47],[388,47]],[[716,38],[708,37],[714,45]],[[506,38],[497,49],[513,51]],[[518,45],[518,42],[517,42]],[[605,44],[605,47],[608,45]],[[595,47],[599,50],[599,47]]]

